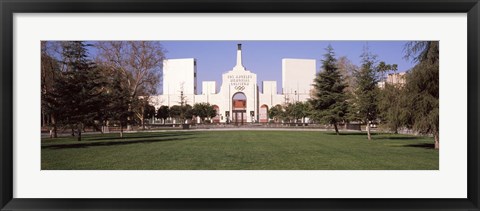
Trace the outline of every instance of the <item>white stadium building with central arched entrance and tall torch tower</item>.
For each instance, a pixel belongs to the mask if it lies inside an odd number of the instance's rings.
[[[241,44],[237,47],[237,63],[222,76],[217,92],[215,81],[202,82],[202,92],[197,94],[197,68],[195,59],[168,59],[164,61],[163,95],[152,97],[158,109],[162,105],[179,105],[180,95],[190,105],[210,103],[217,109],[214,122],[268,122],[268,109],[310,97],[315,78],[315,60],[283,59],[282,90],[277,93],[276,81],[263,81],[259,92],[257,75],[242,64]]]

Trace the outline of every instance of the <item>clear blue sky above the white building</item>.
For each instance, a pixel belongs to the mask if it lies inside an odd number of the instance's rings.
[[[242,44],[243,65],[257,74],[260,88],[262,81],[269,80],[277,81],[281,89],[283,58],[315,59],[318,72],[329,44],[337,58],[346,56],[356,65],[360,65],[360,55],[367,44],[379,61],[397,64],[399,72],[414,65],[403,58],[405,41],[163,41],[162,45],[168,59],[197,59],[197,90],[201,92],[202,81],[217,81],[219,89],[222,73],[235,66],[237,43]]]

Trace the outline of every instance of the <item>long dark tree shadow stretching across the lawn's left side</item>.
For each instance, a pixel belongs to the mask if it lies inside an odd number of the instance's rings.
[[[170,136],[173,136],[173,135],[170,135]],[[155,137],[155,136],[151,136],[151,137]],[[156,137],[159,137],[159,136],[156,136]],[[119,139],[117,137],[117,138],[114,138],[116,139],[116,141],[100,141],[100,142],[80,141],[76,143],[68,142],[68,143],[62,143],[62,144],[51,144],[51,145],[42,146],[42,149],[74,149],[74,148],[78,149],[78,148],[88,148],[88,147],[97,147],[97,146],[118,146],[118,145],[128,145],[128,144],[157,143],[157,142],[181,141],[181,140],[191,139],[189,137],[178,137],[178,138],[172,138],[172,137],[165,138],[165,137],[166,136],[161,136],[162,139],[142,139],[142,140],[128,140],[128,139],[132,139],[133,137],[127,137],[123,139]],[[141,136],[140,138],[149,138],[149,137]]]

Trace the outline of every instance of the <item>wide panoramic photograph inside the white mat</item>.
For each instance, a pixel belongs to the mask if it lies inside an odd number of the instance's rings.
[[[439,170],[438,40],[40,45],[42,171]]]

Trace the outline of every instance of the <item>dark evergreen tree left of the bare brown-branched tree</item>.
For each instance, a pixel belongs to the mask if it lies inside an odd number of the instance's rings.
[[[98,119],[105,106],[106,87],[100,68],[87,56],[87,44],[81,41],[62,42],[65,71],[57,78],[54,97],[63,114],[62,121],[77,129],[81,141],[85,123]]]

